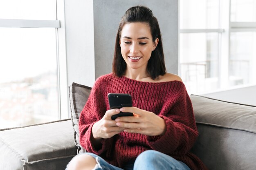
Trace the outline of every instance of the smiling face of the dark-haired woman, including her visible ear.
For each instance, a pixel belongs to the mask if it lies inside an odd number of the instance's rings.
[[[127,68],[141,68],[146,71],[148,60],[157,46],[158,38],[153,42],[148,24],[133,22],[123,26],[119,43]]]

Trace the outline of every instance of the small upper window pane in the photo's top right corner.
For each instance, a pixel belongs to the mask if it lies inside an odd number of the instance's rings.
[[[256,0],[231,0],[231,22],[256,22]]]

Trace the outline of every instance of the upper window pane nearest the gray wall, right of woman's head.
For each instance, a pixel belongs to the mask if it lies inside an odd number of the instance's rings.
[[[218,0],[180,0],[180,29],[218,28]]]

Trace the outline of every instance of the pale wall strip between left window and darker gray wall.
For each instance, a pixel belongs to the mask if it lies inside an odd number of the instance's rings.
[[[67,84],[95,81],[93,0],[65,0]]]

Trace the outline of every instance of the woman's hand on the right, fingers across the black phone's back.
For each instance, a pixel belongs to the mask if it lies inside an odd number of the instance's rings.
[[[166,131],[164,119],[153,112],[141,110],[136,107],[123,107],[122,112],[133,113],[134,116],[118,117],[117,126],[124,128],[124,132],[140,133],[148,136],[163,135]]]

